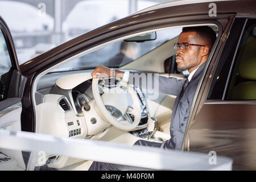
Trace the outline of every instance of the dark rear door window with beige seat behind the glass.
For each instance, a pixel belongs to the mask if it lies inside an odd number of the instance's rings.
[[[234,61],[225,100],[256,100],[256,19],[249,19]]]

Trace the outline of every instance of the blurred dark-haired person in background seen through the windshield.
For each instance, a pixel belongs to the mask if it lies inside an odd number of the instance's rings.
[[[110,58],[108,67],[120,67],[133,61],[138,55],[137,44],[133,42],[123,41],[120,46],[120,52],[114,57]]]

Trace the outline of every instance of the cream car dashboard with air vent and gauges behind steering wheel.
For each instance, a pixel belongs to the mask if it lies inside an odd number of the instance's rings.
[[[36,97],[43,97],[36,99],[40,100],[37,103],[40,118],[39,133],[61,137],[90,138],[111,125],[102,115],[98,114],[92,93],[92,78],[88,77],[87,73],[82,75],[84,75],[82,79],[80,79],[81,74],[59,78],[49,93],[36,94]],[[76,82],[77,79],[80,81]],[[118,85],[118,80],[113,83],[108,79],[104,81],[104,84],[105,86]],[[148,126],[149,113],[146,98],[140,88],[135,86],[132,88],[137,92],[141,104],[141,121],[135,130],[145,129]],[[100,90],[100,94],[102,93],[104,93],[103,90]],[[118,115],[118,109],[114,106],[105,105],[105,107],[113,117]],[[129,114],[129,117],[134,119],[133,114]],[[53,128],[55,128],[54,132]],[[61,128],[63,131],[60,130]]]

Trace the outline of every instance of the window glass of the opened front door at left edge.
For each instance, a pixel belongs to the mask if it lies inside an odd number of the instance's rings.
[[[9,85],[11,59],[5,38],[0,30],[0,101],[5,100]]]

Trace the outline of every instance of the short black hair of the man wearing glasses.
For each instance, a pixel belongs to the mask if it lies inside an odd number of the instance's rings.
[[[216,40],[216,33],[212,30],[212,28],[208,26],[197,26],[197,27],[183,27],[182,32],[195,31],[196,35],[200,36],[200,38],[208,41],[210,46],[212,47]]]

